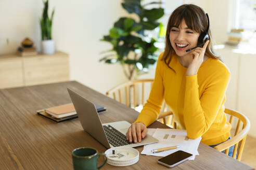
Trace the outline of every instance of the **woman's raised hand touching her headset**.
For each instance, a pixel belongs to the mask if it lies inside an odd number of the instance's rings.
[[[206,43],[204,43],[202,48],[198,47],[190,52],[192,54],[191,57],[193,57],[193,60],[191,63],[189,63],[187,67],[187,76],[197,74],[198,69],[203,62],[204,52],[206,52],[206,47],[208,46],[208,44],[209,40],[207,40]]]

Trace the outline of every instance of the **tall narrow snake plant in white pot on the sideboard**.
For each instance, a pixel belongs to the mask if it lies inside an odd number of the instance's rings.
[[[41,33],[42,33],[42,52],[44,54],[53,54],[55,52],[54,40],[52,39],[52,23],[54,10],[52,16],[48,17],[48,0],[44,3],[43,15],[40,20]]]

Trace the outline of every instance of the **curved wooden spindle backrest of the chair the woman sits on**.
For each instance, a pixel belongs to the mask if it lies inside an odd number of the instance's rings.
[[[225,150],[225,154],[228,154],[229,147],[235,145],[232,157],[235,159],[236,153],[237,153],[236,159],[240,161],[242,157],[242,151],[244,150],[244,146],[245,146],[246,136],[250,130],[251,124],[249,119],[244,114],[241,114],[238,111],[226,108],[224,112],[227,115],[230,115],[229,123],[234,124],[233,119],[234,118],[238,119],[235,127],[236,129],[235,134],[231,139],[225,141],[220,145],[215,146],[214,148],[219,151]]]

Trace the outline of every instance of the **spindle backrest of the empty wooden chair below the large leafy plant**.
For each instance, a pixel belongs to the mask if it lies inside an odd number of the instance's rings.
[[[144,105],[145,103],[145,87],[146,84],[150,84],[150,89],[153,84],[153,79],[138,79],[138,80],[132,80],[127,81],[122,84],[119,84],[118,86],[110,89],[107,91],[108,96],[113,96],[114,100],[119,101],[120,103],[124,103],[126,106],[130,106],[132,108],[135,108],[139,104]],[[138,91],[138,89],[141,88],[141,92]],[[131,92],[132,92],[132,98],[131,98]],[[140,94],[140,100],[138,101],[137,98]],[[132,104],[132,105],[131,105]],[[167,105],[163,104],[162,111],[166,111]]]

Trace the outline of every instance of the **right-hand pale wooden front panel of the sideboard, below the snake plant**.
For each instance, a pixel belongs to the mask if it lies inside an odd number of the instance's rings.
[[[25,86],[69,80],[69,57],[35,56],[24,58]]]

